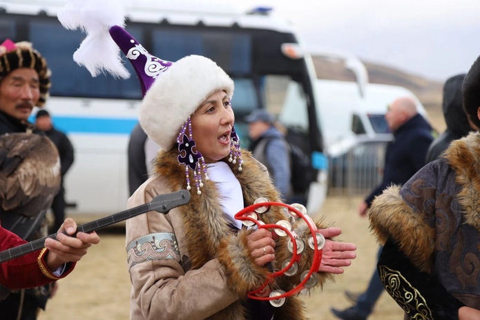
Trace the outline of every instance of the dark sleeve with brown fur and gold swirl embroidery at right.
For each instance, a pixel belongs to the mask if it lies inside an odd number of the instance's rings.
[[[384,245],[377,265],[381,281],[412,319],[458,319],[464,306],[434,273],[435,203],[439,183],[445,182],[437,169],[425,166],[402,188],[387,188],[369,211],[371,228]]]

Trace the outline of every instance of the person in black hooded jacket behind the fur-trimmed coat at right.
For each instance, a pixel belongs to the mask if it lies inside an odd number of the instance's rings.
[[[463,79],[465,79],[465,73],[454,75],[445,81],[443,86],[443,116],[447,128],[430,144],[425,163],[438,159],[452,140],[465,137],[472,130],[470,120],[468,120],[462,106],[461,87]]]

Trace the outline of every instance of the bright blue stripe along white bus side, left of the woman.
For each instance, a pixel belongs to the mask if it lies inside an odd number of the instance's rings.
[[[35,123],[35,118],[29,121]],[[130,134],[137,119],[52,117],[53,125],[66,133]]]

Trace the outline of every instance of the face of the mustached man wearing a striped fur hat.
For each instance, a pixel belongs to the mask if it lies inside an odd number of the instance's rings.
[[[0,81],[0,110],[16,119],[28,119],[39,97],[39,76],[33,69],[13,70]]]

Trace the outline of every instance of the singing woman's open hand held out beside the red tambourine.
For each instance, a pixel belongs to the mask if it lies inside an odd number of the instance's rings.
[[[351,259],[356,258],[356,246],[354,243],[343,243],[329,239],[340,235],[342,233],[340,228],[321,229],[318,232],[325,237],[322,261],[318,272],[343,273],[341,267],[350,266],[352,264]]]

